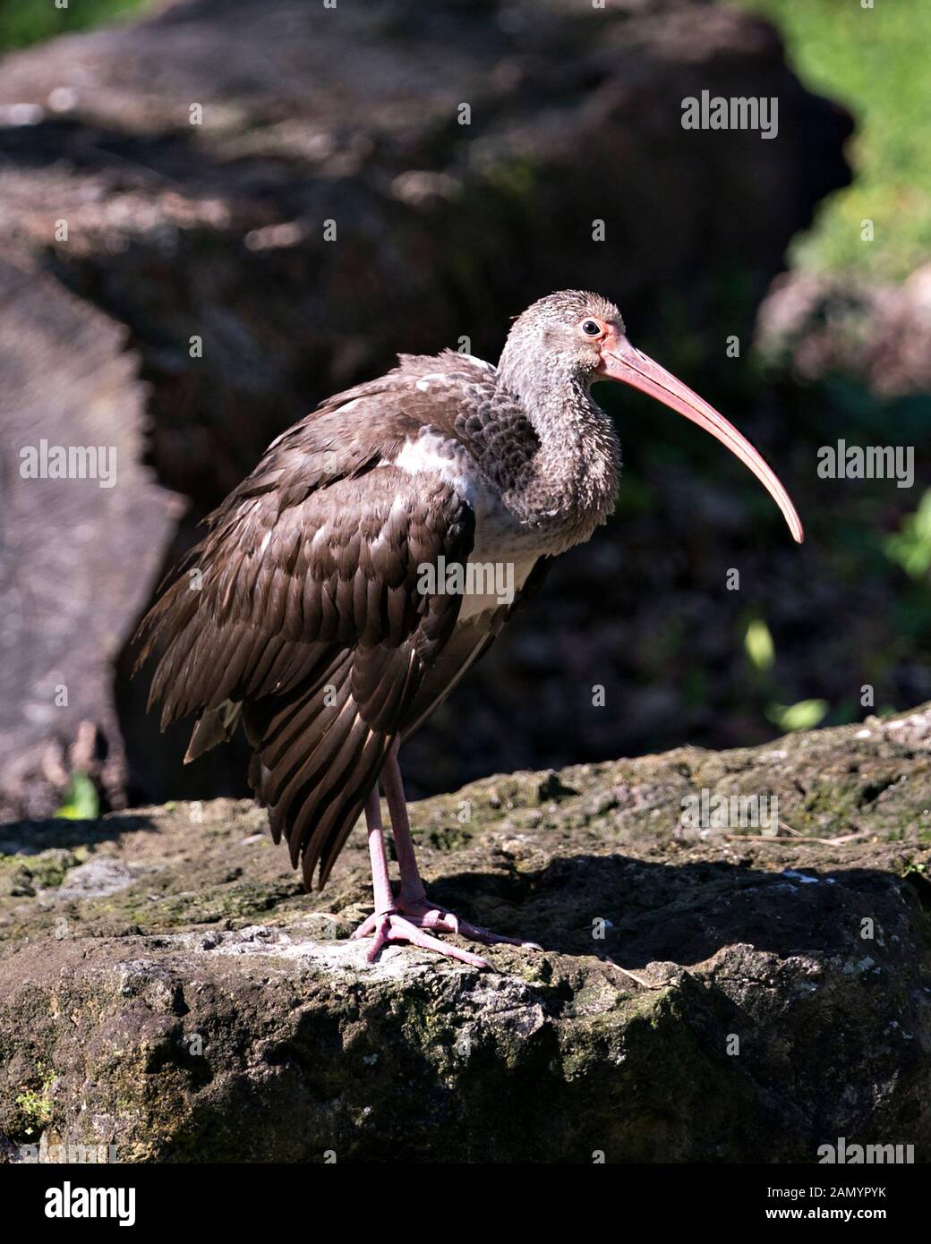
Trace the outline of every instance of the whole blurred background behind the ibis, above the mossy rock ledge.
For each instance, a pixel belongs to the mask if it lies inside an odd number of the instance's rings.
[[[808,540],[606,392],[615,520],[411,741],[412,791],[929,699],[922,34],[921,0],[0,2],[0,811],[244,792],[129,683],[156,583],[321,397],[494,358],[561,286],[741,427]],[[702,90],[777,96],[778,137],[685,131]],[[24,480],[39,438],[117,445],[116,486]],[[839,439],[915,447],[912,486],[820,478]]]

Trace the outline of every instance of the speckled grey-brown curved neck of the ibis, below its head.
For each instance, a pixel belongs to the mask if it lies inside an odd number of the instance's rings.
[[[587,540],[612,513],[621,455],[610,418],[576,376],[546,373],[500,382],[520,399],[540,440],[519,496],[525,521],[553,531],[569,547]]]

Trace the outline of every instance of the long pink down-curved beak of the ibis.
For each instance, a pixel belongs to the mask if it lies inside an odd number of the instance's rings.
[[[685,414],[692,423],[697,423],[699,428],[704,428],[722,445],[727,445],[731,453],[739,458],[744,466],[749,466],[760,484],[763,484],[783,511],[793,539],[802,544],[804,539],[802,520],[795,513],[795,506],[789,500],[789,494],[780,484],[775,471],[767,465],[749,440],[742,437],[723,414],[718,414],[714,407],[708,406],[687,384],[676,379],[672,372],[667,372],[665,367],[660,367],[652,358],[647,358],[646,355],[631,346],[626,337],[612,336],[605,342],[601,350],[601,363],[597,373],[606,379],[630,384],[640,389],[641,393],[648,393],[657,402],[662,402],[671,409],[678,411],[680,414]]]

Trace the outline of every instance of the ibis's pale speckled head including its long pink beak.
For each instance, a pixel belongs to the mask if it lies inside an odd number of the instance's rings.
[[[723,414],[627,341],[621,313],[607,299],[563,290],[529,306],[512,325],[500,369],[520,392],[522,372],[530,367],[576,384],[596,379],[630,384],[697,423],[753,471],[782,510],[793,539],[802,542],[802,521],[775,471]]]

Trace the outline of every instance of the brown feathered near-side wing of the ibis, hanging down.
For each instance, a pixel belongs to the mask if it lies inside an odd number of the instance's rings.
[[[239,705],[250,782],[309,886],[317,863],[325,883],[456,626],[462,598],[424,595],[419,569],[464,564],[474,539],[472,508],[439,475],[412,479],[322,414],[210,516],[143,621],[139,658],[163,646],[163,726]]]

